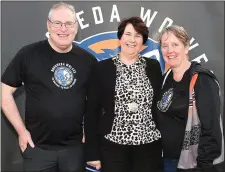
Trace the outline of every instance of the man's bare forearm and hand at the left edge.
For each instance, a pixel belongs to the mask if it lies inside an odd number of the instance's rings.
[[[16,91],[16,89],[17,88],[15,87],[11,87],[2,83],[2,110],[18,133],[19,146],[23,152],[27,148],[27,143],[29,143],[31,147],[34,147],[34,143],[31,139],[29,131],[27,131],[23,123],[13,98],[13,93]]]

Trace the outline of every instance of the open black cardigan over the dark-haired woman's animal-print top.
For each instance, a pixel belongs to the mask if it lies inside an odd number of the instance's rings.
[[[146,59],[146,74],[154,91],[152,115],[155,121],[155,97],[160,91],[162,72],[160,64],[155,59]],[[100,160],[99,135],[111,132],[114,120],[114,94],[116,84],[116,66],[113,60],[98,62],[90,78],[87,110],[84,117],[85,159]]]

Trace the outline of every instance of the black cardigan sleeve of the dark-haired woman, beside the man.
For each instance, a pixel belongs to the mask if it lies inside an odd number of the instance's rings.
[[[84,116],[85,160],[100,160],[100,150],[97,137],[98,116],[100,105],[98,100],[98,70],[97,64],[92,68],[87,96],[87,110]]]

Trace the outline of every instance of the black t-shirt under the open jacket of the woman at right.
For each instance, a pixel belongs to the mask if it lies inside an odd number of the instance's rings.
[[[157,101],[157,120],[162,134],[164,158],[179,159],[188,115],[189,83],[188,69],[181,81],[173,79],[169,73]]]

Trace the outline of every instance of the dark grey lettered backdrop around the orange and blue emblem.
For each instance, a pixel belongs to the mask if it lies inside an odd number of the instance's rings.
[[[55,2],[2,2],[2,69],[3,73],[16,52],[24,45],[46,39],[46,21]],[[121,19],[141,16],[149,28],[149,38],[169,24],[187,29],[192,38],[189,56],[212,70],[224,95],[224,2],[68,2],[76,8],[79,31],[76,41],[117,30]],[[96,38],[97,39],[97,38]],[[98,39],[100,39],[98,37]],[[89,40],[89,39],[88,39]],[[107,48],[107,47],[103,47]],[[115,47],[110,47],[115,48]],[[24,118],[24,90],[15,93]],[[223,104],[223,101],[222,101]],[[22,157],[17,135],[1,116],[2,171],[20,171]]]

